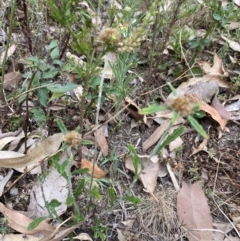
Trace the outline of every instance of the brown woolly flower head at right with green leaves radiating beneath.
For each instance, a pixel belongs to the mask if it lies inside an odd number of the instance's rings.
[[[181,116],[188,116],[193,111],[193,104],[185,96],[178,96],[172,100],[169,106]]]

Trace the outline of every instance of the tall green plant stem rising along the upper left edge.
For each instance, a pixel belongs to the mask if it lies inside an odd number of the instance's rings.
[[[15,8],[16,8],[16,2],[17,2],[17,0],[12,0],[10,26],[9,26],[9,30],[8,30],[7,45],[6,45],[5,54],[4,54],[3,63],[2,63],[2,80],[0,81],[0,101],[2,101],[3,103],[6,102],[5,98],[4,98],[4,92],[3,92],[3,83],[4,83],[5,67],[6,67],[7,57],[8,57],[8,49],[9,49],[13,25],[14,25],[13,18],[14,18],[14,13],[15,13]]]

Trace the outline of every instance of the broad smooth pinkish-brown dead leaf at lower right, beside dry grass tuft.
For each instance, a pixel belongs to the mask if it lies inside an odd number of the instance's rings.
[[[177,213],[182,228],[188,231],[189,241],[212,241],[212,217],[207,199],[198,183],[188,185],[183,182],[177,196]],[[191,231],[199,229],[202,231]]]

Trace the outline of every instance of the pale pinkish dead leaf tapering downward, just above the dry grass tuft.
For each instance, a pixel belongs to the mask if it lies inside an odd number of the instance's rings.
[[[138,174],[141,172],[139,179],[146,189],[146,192],[152,194],[157,185],[157,178],[160,170],[159,162],[150,160],[149,157],[146,157],[146,155],[143,157],[139,155],[139,158],[142,162],[142,165],[144,166],[144,169],[142,170],[141,165],[138,165]],[[156,159],[156,157],[154,158]],[[130,156],[126,159],[125,166],[128,170],[132,171],[133,173],[135,172],[132,158]]]

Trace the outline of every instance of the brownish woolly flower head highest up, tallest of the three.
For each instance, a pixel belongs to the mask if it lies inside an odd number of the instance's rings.
[[[110,47],[116,47],[121,40],[121,35],[116,28],[105,28],[98,36],[98,39]]]

